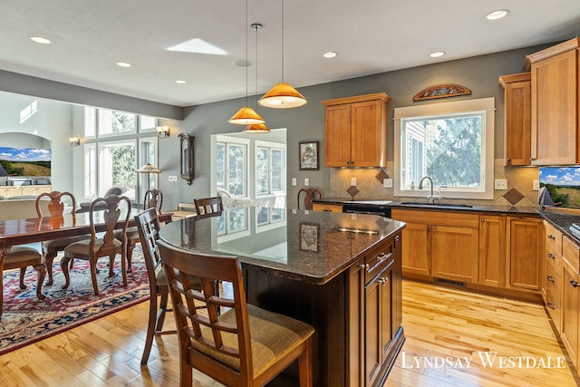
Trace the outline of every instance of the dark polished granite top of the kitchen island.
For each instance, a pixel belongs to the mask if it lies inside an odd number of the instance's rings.
[[[282,220],[257,226],[265,209],[277,211],[268,219],[274,214]],[[275,276],[323,285],[404,227],[374,215],[281,208],[248,208],[239,221],[237,211],[173,221],[161,228],[160,238],[196,253],[238,256],[243,265]]]

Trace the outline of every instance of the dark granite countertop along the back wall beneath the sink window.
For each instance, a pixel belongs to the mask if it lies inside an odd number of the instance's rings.
[[[313,203],[323,203],[323,204],[335,204],[335,205],[342,205],[344,202],[357,202],[361,205],[364,205],[364,201],[372,200],[376,201],[377,199],[364,199],[364,198],[320,198],[314,199]],[[372,206],[372,204],[369,204]],[[539,207],[514,207],[514,206],[494,206],[494,205],[469,205],[471,207],[463,207],[464,205],[459,204],[457,206],[456,203],[446,201],[443,199],[437,205],[431,205],[429,203],[421,202],[421,201],[397,201],[392,200],[389,203],[391,208],[413,208],[413,209],[430,209],[430,210],[440,210],[440,211],[460,211],[460,212],[496,212],[496,213],[505,213],[505,214],[520,214],[520,215],[534,215],[538,216],[538,212],[540,210]],[[457,207],[456,207],[457,206]]]

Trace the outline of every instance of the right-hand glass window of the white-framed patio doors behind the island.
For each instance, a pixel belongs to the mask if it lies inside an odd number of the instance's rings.
[[[281,144],[256,141],[256,197],[285,192],[284,153]]]

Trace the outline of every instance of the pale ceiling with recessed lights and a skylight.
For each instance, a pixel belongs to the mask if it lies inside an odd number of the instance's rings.
[[[284,12],[284,80],[298,89],[580,33],[578,0],[286,0]],[[282,79],[281,13],[282,0],[2,0],[0,69],[176,106],[228,100],[256,94],[256,67],[232,63],[255,62],[260,23],[261,94]],[[226,54],[166,50],[194,38]]]

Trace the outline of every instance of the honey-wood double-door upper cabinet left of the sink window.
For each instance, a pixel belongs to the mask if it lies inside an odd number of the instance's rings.
[[[325,167],[386,166],[389,101],[384,92],[323,101]]]

